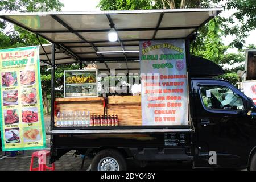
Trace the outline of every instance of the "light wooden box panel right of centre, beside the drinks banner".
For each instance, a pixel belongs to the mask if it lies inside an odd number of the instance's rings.
[[[141,96],[110,96],[108,114],[117,114],[119,126],[141,126]]]

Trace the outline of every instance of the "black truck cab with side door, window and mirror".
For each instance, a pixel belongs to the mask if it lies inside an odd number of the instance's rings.
[[[255,105],[228,81],[192,78],[194,167],[247,167],[256,146]]]

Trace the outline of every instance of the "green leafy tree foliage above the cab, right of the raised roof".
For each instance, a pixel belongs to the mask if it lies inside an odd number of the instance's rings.
[[[228,19],[225,18],[214,18],[210,20],[208,24],[201,27],[198,31],[195,45],[191,43],[191,49],[193,49],[193,54],[197,56],[204,57],[206,59],[212,60],[214,63],[221,65],[221,67],[227,64],[236,65],[235,67],[225,67],[226,74],[220,76],[219,78],[224,78],[232,82],[233,84],[237,81],[236,72],[238,69],[243,69],[245,55],[244,53],[225,53],[230,46],[243,48],[243,39],[246,38],[247,32],[255,28],[255,3],[254,0],[249,0],[245,3],[244,0],[231,0],[227,1],[222,5],[225,10],[237,9],[235,13]],[[174,8],[191,8],[191,7],[212,7],[213,3],[220,4],[222,0],[100,0],[98,7],[101,10],[135,10],[135,9],[174,9]],[[248,15],[247,15],[248,14]],[[245,16],[249,16],[249,19],[245,19]],[[241,26],[233,26],[235,22],[232,22],[232,18],[236,18],[242,23]],[[229,24],[228,24],[229,23]],[[241,32],[240,32],[241,31]],[[222,43],[221,36],[226,35],[241,35],[233,40],[230,46],[225,46]],[[238,40],[240,39],[240,40]]]

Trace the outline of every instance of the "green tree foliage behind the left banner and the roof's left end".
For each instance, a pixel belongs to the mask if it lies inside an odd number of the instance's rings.
[[[63,3],[59,0],[8,0],[0,1],[0,11],[60,11],[63,7]],[[35,34],[32,34],[23,28],[18,26],[11,27],[10,30],[6,30],[7,22],[0,19],[0,49],[34,46],[39,45],[39,41]],[[43,44],[48,43],[45,39],[39,38]],[[56,69],[57,70],[57,69]],[[41,67],[41,79],[42,79],[42,93],[43,93],[43,105],[46,113],[49,113],[49,90],[51,90],[51,84],[49,79],[51,78],[51,69],[48,67]],[[59,78],[60,73],[56,76]],[[63,75],[62,75],[63,76]]]

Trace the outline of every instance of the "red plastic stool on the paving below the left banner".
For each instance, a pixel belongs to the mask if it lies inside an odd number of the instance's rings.
[[[54,163],[52,163],[52,167],[46,166],[46,157],[49,155],[50,151],[48,150],[33,152],[30,163],[30,171],[46,171],[46,169],[55,171]],[[36,168],[33,168],[34,158],[38,158],[38,167]]]

